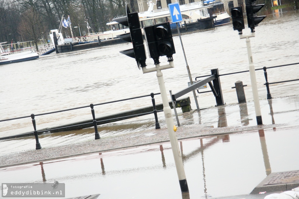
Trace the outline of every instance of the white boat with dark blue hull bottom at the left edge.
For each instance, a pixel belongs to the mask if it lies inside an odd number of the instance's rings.
[[[34,47],[23,47],[22,43],[5,44],[7,42],[0,43],[0,65],[10,64],[16,62],[24,62],[39,58],[39,55],[35,52]],[[18,49],[10,49],[11,46],[18,46]]]

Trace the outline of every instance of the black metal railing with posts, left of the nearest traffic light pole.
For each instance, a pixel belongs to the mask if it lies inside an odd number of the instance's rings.
[[[154,96],[158,95],[158,94],[160,94],[160,93],[155,93],[155,94],[151,93],[149,95],[131,97],[131,98],[126,98],[126,99],[122,99],[122,100],[115,100],[115,101],[103,102],[103,103],[98,103],[98,104],[92,104],[91,103],[90,105],[80,106],[80,107],[76,107],[76,108],[68,108],[68,109],[59,110],[59,111],[52,111],[52,112],[48,112],[48,113],[31,114],[30,116],[9,118],[9,119],[5,119],[5,120],[0,120],[0,122],[10,121],[10,120],[19,120],[19,119],[31,117],[32,124],[33,124],[33,129],[34,129],[33,134],[34,134],[35,140],[36,140],[36,149],[41,149],[42,148],[40,143],[39,143],[38,134],[45,133],[45,132],[48,132],[48,131],[82,129],[82,128],[94,126],[94,133],[95,133],[95,138],[94,139],[97,140],[97,139],[100,139],[100,135],[99,135],[99,132],[97,130],[97,125],[98,125],[98,123],[103,123],[103,122],[109,122],[109,121],[115,121],[115,120],[124,120],[124,119],[129,119],[129,118],[132,118],[132,117],[138,117],[138,116],[143,116],[143,115],[153,113],[155,115],[155,128],[156,129],[160,128],[160,125],[159,125],[159,122],[158,122],[157,112],[161,112],[163,110],[159,110],[159,111],[156,110],[155,98],[154,98]],[[109,103],[114,103],[114,102],[121,102],[121,101],[126,101],[126,100],[133,100],[133,99],[138,99],[138,98],[142,98],[142,97],[149,97],[149,96],[152,98],[153,111],[143,112],[143,113],[140,113],[140,114],[126,115],[126,116],[123,116],[123,117],[114,117],[114,118],[110,118],[110,119],[106,119],[106,120],[96,120],[95,113],[94,113],[94,106],[104,105],[104,104],[109,104]],[[91,114],[92,114],[92,119],[93,119],[92,122],[84,122],[84,123],[79,123],[79,124],[76,124],[76,125],[66,125],[66,126],[62,126],[62,127],[58,127],[58,128],[47,128],[47,129],[42,129],[42,130],[36,130],[36,120],[35,120],[36,116],[60,113],[60,112],[65,112],[65,111],[81,109],[81,108],[87,108],[87,107],[91,108]],[[32,134],[32,133],[28,133],[26,135],[30,135],[30,134]],[[22,135],[24,135],[24,134],[22,134]],[[13,136],[13,137],[16,137],[16,136]],[[8,138],[8,137],[5,137],[5,138]],[[5,138],[0,138],[0,140],[3,140]]]

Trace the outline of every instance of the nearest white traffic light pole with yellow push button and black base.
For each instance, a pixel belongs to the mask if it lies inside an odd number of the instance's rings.
[[[185,176],[185,171],[184,171],[183,160],[181,157],[181,151],[179,148],[178,138],[176,136],[176,126],[174,125],[174,122],[173,122],[171,108],[169,106],[169,102],[168,102],[168,98],[167,98],[167,94],[166,94],[164,78],[163,78],[163,74],[161,72],[161,70],[173,68],[173,67],[174,67],[173,61],[169,61],[169,64],[164,65],[164,66],[160,66],[160,64],[156,64],[155,68],[142,67],[142,72],[150,73],[150,72],[157,71],[157,78],[158,78],[160,93],[161,93],[162,102],[163,102],[163,111],[164,111],[167,130],[168,130],[168,134],[169,134],[170,144],[171,144],[171,148],[172,148],[172,152],[173,152],[174,162],[176,164],[176,172],[178,173],[178,177],[179,177],[181,192],[189,192],[188,184],[187,184],[187,180],[186,180],[186,176]]]

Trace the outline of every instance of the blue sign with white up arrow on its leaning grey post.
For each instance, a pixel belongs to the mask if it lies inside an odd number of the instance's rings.
[[[170,12],[171,22],[176,23],[176,29],[178,30],[178,34],[179,34],[179,38],[180,38],[180,41],[181,41],[181,46],[182,46],[182,49],[183,49],[185,62],[186,62],[186,67],[187,67],[187,71],[188,71],[188,75],[189,75],[189,79],[190,79],[190,82],[191,82],[191,85],[192,85],[193,80],[192,80],[191,73],[190,73],[190,68],[189,68],[189,65],[188,65],[188,62],[187,62],[187,59],[186,59],[186,54],[185,54],[185,50],[184,50],[184,46],[183,46],[183,42],[182,42],[180,30],[179,30],[179,25],[178,25],[178,22],[183,21],[181,10],[180,10],[180,5],[179,5],[179,3],[173,3],[173,4],[168,4],[168,7],[169,7],[169,12]],[[195,90],[193,90],[193,96],[194,96],[197,111],[200,111]],[[178,124],[178,126],[180,126],[180,125]]]

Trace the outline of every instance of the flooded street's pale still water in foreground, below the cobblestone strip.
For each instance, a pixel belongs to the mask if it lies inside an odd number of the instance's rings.
[[[183,140],[190,198],[250,193],[271,172],[299,168],[297,129]],[[70,169],[71,168],[71,169]],[[0,169],[5,183],[65,183],[65,197],[182,198],[170,143]]]

